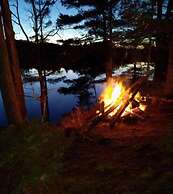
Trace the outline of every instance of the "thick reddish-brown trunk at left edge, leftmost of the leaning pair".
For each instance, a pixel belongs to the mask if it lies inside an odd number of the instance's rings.
[[[19,109],[15,84],[10,69],[8,50],[4,39],[2,20],[0,18],[0,87],[5,111],[9,123],[21,124],[23,115]]]

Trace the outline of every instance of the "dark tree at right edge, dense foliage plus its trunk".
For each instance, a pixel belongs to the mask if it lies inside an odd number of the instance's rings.
[[[122,18],[126,23],[124,41],[139,45],[154,40],[157,48],[154,79],[165,81],[168,65],[168,50],[172,28],[172,0],[124,1]],[[159,53],[158,53],[159,52]]]

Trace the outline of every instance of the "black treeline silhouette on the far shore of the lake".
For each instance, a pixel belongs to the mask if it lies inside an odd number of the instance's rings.
[[[73,68],[96,66],[103,67],[106,60],[104,44],[102,42],[89,45],[58,45],[52,43],[36,44],[16,40],[21,68],[37,68],[39,64],[46,69]],[[135,62],[153,62],[161,59],[159,53],[168,52],[156,47],[113,48],[113,65],[118,67]]]

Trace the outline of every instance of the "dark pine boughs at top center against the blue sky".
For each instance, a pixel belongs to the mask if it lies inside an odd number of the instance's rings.
[[[74,15],[60,14],[57,26],[70,26],[74,29],[87,30],[87,36],[95,38],[112,38],[112,30],[117,26],[119,18],[116,17],[119,0],[88,1],[88,0],[62,0],[62,5],[68,9],[77,10]]]

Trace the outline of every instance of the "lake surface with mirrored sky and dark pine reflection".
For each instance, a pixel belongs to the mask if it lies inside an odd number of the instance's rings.
[[[145,66],[145,65],[144,65]],[[136,65],[136,72],[146,67]],[[113,76],[133,76],[134,64],[113,70]],[[131,73],[131,74],[129,74]],[[106,73],[92,69],[43,71],[42,80],[36,69],[23,71],[23,85],[29,119],[57,122],[74,107],[89,108],[100,95]],[[42,83],[41,83],[41,82]],[[42,89],[40,90],[40,83]],[[0,126],[7,124],[2,99],[0,98]]]

